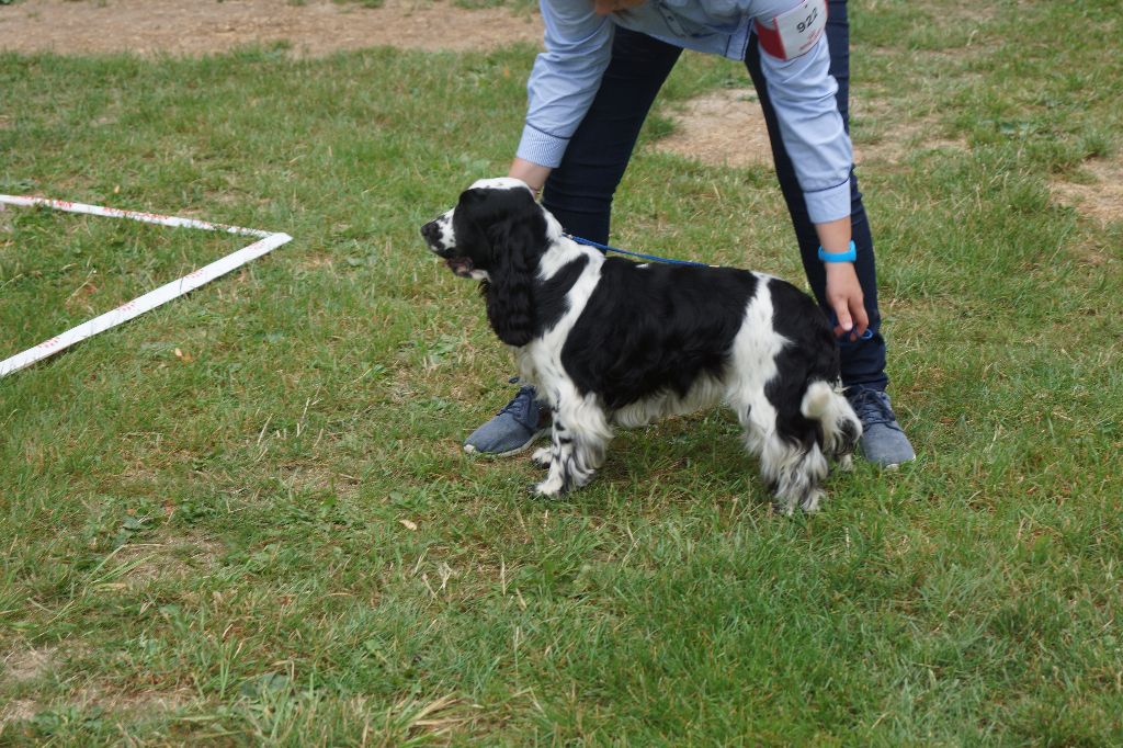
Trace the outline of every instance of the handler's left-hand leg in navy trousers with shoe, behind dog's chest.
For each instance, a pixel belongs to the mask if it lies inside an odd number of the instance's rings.
[[[601,88],[542,191],[542,204],[569,234],[609,240],[612,195],[651,103],[681,54],[679,47],[645,34],[617,29]],[[497,416],[468,436],[465,451],[503,456],[529,447],[549,425],[536,396],[533,387],[520,387]]]

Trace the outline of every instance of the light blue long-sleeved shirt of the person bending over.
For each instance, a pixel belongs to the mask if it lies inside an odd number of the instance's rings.
[[[585,117],[612,55],[615,27],[641,31],[687,49],[745,60],[750,25],[773,19],[798,0],[647,0],[611,16],[592,0],[539,0],[546,52],[527,84],[529,108],[517,155],[555,167]],[[853,155],[834,100],[827,36],[804,55],[778,60],[760,53],[780,134],[803,189],[812,222],[850,215]]]

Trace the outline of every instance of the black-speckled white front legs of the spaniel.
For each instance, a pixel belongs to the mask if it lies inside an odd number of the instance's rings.
[[[575,392],[558,398],[549,446],[549,473],[533,486],[540,496],[558,496],[579,489],[593,478],[604,464],[612,429],[604,410],[594,395],[584,398]],[[535,462],[546,462],[545,449],[535,454]]]

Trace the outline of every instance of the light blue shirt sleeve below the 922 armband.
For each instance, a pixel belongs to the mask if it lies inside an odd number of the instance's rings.
[[[813,224],[850,216],[853,150],[834,99],[827,36],[793,60],[760,49],[760,69]]]

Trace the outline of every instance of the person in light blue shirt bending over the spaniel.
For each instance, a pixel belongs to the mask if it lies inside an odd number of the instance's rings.
[[[612,197],[643,120],[683,49],[748,69],[811,289],[837,321],[842,383],[862,421],[861,451],[880,466],[915,457],[885,392],[874,240],[849,137],[846,0],[540,0],[546,51],[510,176],[565,230],[608,243]],[[511,455],[545,434],[522,386],[465,450]]]

